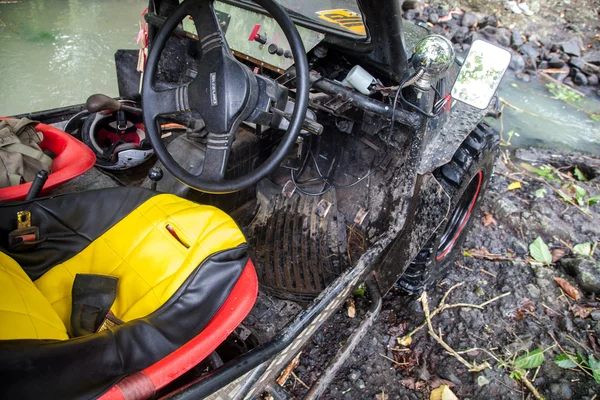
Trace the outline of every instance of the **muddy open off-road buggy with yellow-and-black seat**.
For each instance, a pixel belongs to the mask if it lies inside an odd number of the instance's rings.
[[[372,308],[318,398],[382,295],[453,262],[492,174],[482,119],[504,53],[461,70],[401,15],[396,0],[152,0],[147,60],[116,55],[127,102],[18,116],[87,137],[93,115],[141,101],[158,161],[0,206],[2,397],[284,399],[282,370],[366,284]]]

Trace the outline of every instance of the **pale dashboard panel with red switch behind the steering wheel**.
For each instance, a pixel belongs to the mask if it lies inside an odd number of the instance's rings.
[[[221,29],[234,54],[256,65],[283,73],[294,64],[289,43],[277,22],[268,15],[215,2],[215,11]],[[324,38],[325,34],[296,25],[307,52]],[[194,22],[188,17],[183,29],[196,35]]]

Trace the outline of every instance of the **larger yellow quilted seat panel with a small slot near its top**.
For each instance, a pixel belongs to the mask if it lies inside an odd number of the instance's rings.
[[[64,325],[70,326],[75,275],[117,277],[117,298],[111,311],[127,322],[163,305],[210,255],[243,243],[245,238],[236,223],[219,209],[161,194],[142,203],[34,283]]]

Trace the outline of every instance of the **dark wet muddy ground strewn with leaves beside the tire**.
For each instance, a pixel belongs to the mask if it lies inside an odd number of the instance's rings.
[[[510,161],[509,161],[510,160]],[[527,165],[549,164],[556,168],[556,182],[535,173],[524,172]],[[584,171],[587,182],[573,178],[575,165]],[[464,249],[471,257],[460,256],[447,277],[428,293],[433,310],[448,289],[457,283],[446,303],[481,304],[510,293],[491,304],[476,308],[447,309],[432,318],[435,330],[456,351],[474,349],[462,356],[470,363],[488,362],[490,368],[469,372],[456,358],[423,329],[407,347],[397,342],[424,321],[423,309],[415,296],[403,296],[392,289],[384,297],[383,310],[372,330],[346,361],[336,380],[322,398],[326,399],[429,399],[440,384],[452,386],[460,399],[534,398],[522,384],[502,368],[501,360],[511,361],[537,348],[547,349],[539,370],[528,370],[527,378],[547,399],[594,399],[600,384],[577,369],[562,369],[553,360],[562,351],[577,351],[587,359],[600,359],[600,304],[594,293],[600,284],[600,264],[592,258],[576,256],[569,246],[600,240],[600,205],[574,207],[565,203],[551,188],[574,183],[587,192],[587,198],[600,194],[597,158],[581,154],[553,154],[546,150],[517,150],[496,163],[496,174],[482,199],[482,212],[476,217]],[[516,173],[515,173],[516,172]],[[522,188],[508,191],[513,179]],[[575,180],[574,180],[575,179]],[[543,198],[536,191],[546,188]],[[566,189],[565,189],[566,190]],[[588,215],[589,214],[589,215]],[[484,226],[484,222],[492,222]],[[550,266],[530,262],[528,246],[541,237],[550,250],[563,249],[564,257]],[[473,257],[478,251],[492,258]],[[560,255],[555,251],[555,255]],[[600,259],[600,251],[594,257]],[[578,302],[565,296],[554,277],[570,282],[581,293]],[[587,291],[584,291],[587,290]],[[357,315],[348,317],[340,310],[312,338],[303,350],[297,379],[291,377],[286,389],[300,398],[368,309],[365,297],[354,296]],[[575,316],[575,304],[587,307],[586,318]],[[559,349],[556,342],[563,350]]]

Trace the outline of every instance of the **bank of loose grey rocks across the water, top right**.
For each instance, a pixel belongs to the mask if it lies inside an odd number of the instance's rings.
[[[537,14],[532,17],[504,10],[502,1],[405,1],[403,7],[406,19],[448,37],[458,53],[484,39],[510,49],[510,68],[523,81],[541,75],[549,82],[600,96],[600,3],[533,3]]]

